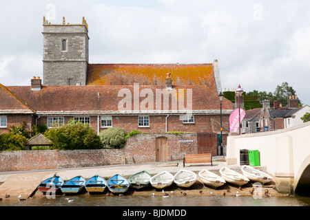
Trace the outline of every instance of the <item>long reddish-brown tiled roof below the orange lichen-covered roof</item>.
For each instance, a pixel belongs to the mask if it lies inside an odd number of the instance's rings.
[[[178,95],[180,89],[192,89],[192,109],[194,111],[218,111],[220,110],[220,102],[218,94],[207,86],[174,86]],[[37,113],[109,113],[118,111],[118,103],[123,100],[124,96],[118,97],[121,89],[130,91],[132,94],[132,111],[134,111],[134,86],[133,85],[109,85],[109,86],[43,86],[41,91],[32,91],[27,86],[11,86],[8,87],[14,96],[19,97],[22,102],[27,103]],[[126,90],[127,89],[127,90]],[[156,89],[165,89],[164,86],[141,85],[142,89],[150,89],[154,94],[154,106],[156,104]],[[165,89],[167,90],[167,89]],[[185,90],[185,107],[186,107],[186,91]],[[140,97],[140,103],[145,97]],[[171,103],[171,102],[170,102]],[[2,104],[0,104],[2,105]],[[14,103],[13,103],[14,106]],[[10,109],[10,104],[6,104],[6,108]],[[155,107],[154,107],[155,108]],[[161,103],[163,109],[163,98]],[[169,107],[171,109],[171,106]],[[227,111],[227,112],[225,112]],[[223,113],[231,113],[231,102],[224,98]],[[216,112],[216,113],[218,113]]]

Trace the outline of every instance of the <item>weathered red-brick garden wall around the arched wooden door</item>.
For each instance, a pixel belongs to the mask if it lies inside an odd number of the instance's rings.
[[[198,153],[197,133],[141,133],[130,137],[123,149],[3,151],[0,152],[0,171],[121,164],[122,157],[127,163],[156,162],[156,137],[167,137],[168,161]]]

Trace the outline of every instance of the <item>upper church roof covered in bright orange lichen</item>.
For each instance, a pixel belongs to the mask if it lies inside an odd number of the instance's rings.
[[[165,85],[167,73],[171,73],[173,85],[207,85],[216,89],[211,63],[89,64],[87,85]]]

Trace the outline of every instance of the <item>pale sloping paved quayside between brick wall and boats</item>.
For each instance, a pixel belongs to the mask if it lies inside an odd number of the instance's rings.
[[[220,170],[222,166],[227,166],[226,162],[222,162],[221,159],[217,159],[213,162],[213,166],[210,164],[194,164],[186,165],[185,168],[198,173],[198,171],[203,169]],[[240,168],[238,165],[227,167],[236,170]],[[115,174],[129,177],[130,175],[138,173],[141,170],[147,170],[147,172],[152,175],[163,170],[167,170],[168,172],[174,174],[181,168],[183,168],[182,161],[154,162],[149,164],[122,164],[87,168],[70,168],[65,170],[0,172],[0,182],[4,182],[0,185],[0,198],[4,198],[6,195],[10,195],[12,198],[17,198],[21,194],[21,198],[26,199],[32,195],[32,192],[37,189],[37,186],[39,186],[43,179],[52,177],[55,172],[63,179],[71,179],[77,175],[81,175],[85,179],[88,179],[96,174],[101,177],[112,177]]]

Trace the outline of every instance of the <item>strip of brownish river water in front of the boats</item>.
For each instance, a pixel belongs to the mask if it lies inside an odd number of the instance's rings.
[[[67,199],[69,198],[70,202]],[[25,201],[3,199],[0,206],[310,206],[310,197],[220,197],[220,196],[124,196],[72,195],[34,197]]]

